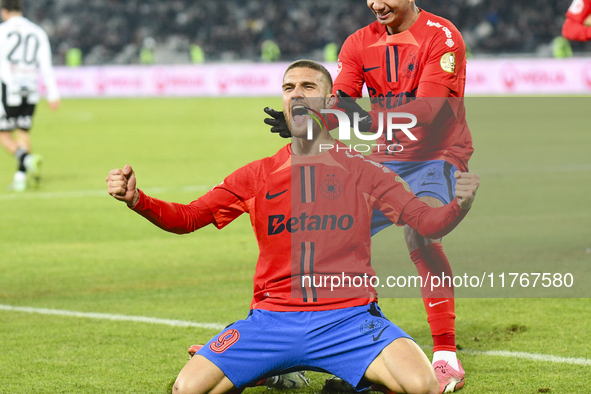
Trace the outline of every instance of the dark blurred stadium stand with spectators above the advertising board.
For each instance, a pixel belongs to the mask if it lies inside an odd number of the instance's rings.
[[[417,0],[450,19],[473,56],[551,57],[571,0]],[[322,60],[328,43],[339,47],[355,30],[375,20],[362,0],[29,0],[25,16],[51,37],[54,64],[69,48],[85,65],[137,64],[148,37],[155,61],[190,63],[198,44],[210,62],[260,61],[261,44],[275,41],[280,60]],[[591,43],[572,43],[575,56]]]

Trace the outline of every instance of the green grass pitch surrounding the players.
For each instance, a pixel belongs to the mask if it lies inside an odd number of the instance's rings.
[[[467,100],[471,170],[482,186],[472,212],[444,240],[454,269],[591,266],[590,104]],[[45,159],[42,187],[5,191],[15,164],[0,155],[0,305],[218,324],[244,318],[257,256],[247,217],[223,231],[168,234],[109,197],[104,179],[129,163],[151,195],[189,202],[286,142],[263,124],[267,105],[281,101],[64,100],[57,113],[41,103],[32,137]],[[402,229],[378,237],[387,237],[396,264],[411,264]],[[380,304],[430,355],[422,301]],[[456,305],[463,393],[591,390],[589,298],[463,298]],[[216,332],[0,309],[0,392],[166,393],[187,348]],[[327,377],[310,376],[302,393],[320,391]]]

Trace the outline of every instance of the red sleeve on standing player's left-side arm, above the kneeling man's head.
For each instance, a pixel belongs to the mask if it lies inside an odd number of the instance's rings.
[[[363,62],[361,55],[361,34],[351,34],[345,40],[339,53],[337,77],[334,80],[332,92],[342,90],[351,97],[361,97],[363,94]]]

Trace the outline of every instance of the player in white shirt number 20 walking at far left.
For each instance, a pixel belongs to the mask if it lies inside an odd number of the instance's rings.
[[[23,17],[21,0],[2,0],[0,24],[0,144],[16,158],[18,169],[11,188],[23,191],[37,187],[42,158],[31,153],[29,130],[39,101],[38,73],[47,86],[47,100],[57,110],[60,96],[47,34]]]

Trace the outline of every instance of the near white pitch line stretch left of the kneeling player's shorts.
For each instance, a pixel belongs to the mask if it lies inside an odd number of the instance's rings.
[[[75,311],[67,311],[67,310],[62,310],[62,309],[31,308],[31,307],[26,307],[26,306],[11,306],[11,305],[1,305],[1,304],[0,304],[0,310],[10,311],[10,312],[36,313],[36,314],[40,314],[40,315],[55,315],[55,316],[81,317],[81,318],[87,318],[87,319],[162,324],[162,325],[173,326],[173,327],[207,328],[207,329],[216,330],[216,331],[220,331],[224,327],[226,327],[226,324],[219,324],[219,323],[195,323],[195,322],[190,322],[190,321],[158,319],[155,317],[146,317],[146,316],[114,315],[111,313],[75,312]]]

